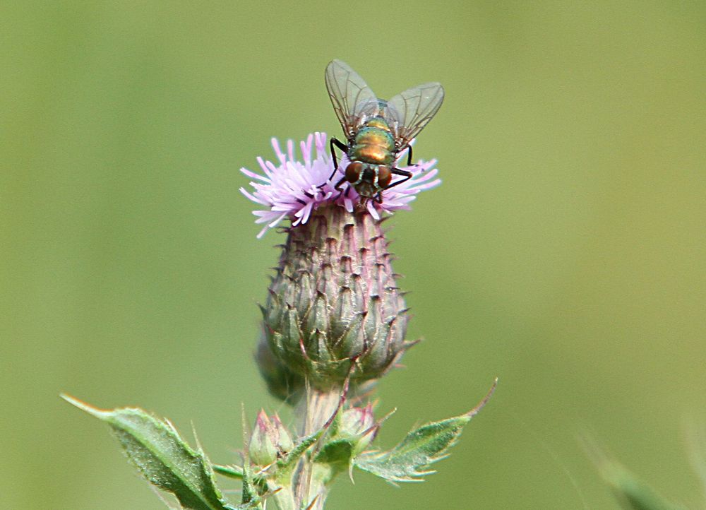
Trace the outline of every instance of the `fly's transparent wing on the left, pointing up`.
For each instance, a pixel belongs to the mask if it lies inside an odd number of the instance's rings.
[[[378,112],[378,98],[360,75],[341,60],[326,66],[326,89],[347,138],[371,115]]]

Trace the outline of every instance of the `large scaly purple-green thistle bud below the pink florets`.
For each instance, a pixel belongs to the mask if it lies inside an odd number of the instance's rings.
[[[412,345],[380,223],[330,205],[288,230],[263,331],[280,369],[317,389],[376,379]]]

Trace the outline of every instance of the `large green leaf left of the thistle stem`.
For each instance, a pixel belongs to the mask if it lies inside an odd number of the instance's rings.
[[[233,510],[215,485],[205,453],[193,451],[174,426],[138,408],[102,410],[62,397],[112,427],[131,463],[152,484],[172,492],[187,510]]]

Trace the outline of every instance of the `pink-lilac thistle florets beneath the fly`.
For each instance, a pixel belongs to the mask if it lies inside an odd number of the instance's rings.
[[[311,211],[327,204],[335,204],[353,212],[354,206],[360,203],[360,196],[348,183],[337,191],[335,185],[342,178],[340,173],[347,167],[349,160],[344,154],[339,158],[339,171],[329,180],[333,172],[333,160],[328,152],[328,138],[325,133],[314,133],[299,143],[301,161],[294,155],[294,141],[287,141],[287,152],[283,152],[277,138],[272,139],[277,162],[263,160],[258,157],[258,164],[263,174],[252,172],[246,168],[240,171],[254,179],[250,185],[252,190],[241,188],[240,191],[251,201],[263,206],[254,210],[258,217],[255,223],[265,223],[258,234],[263,237],[270,228],[276,227],[285,218],[292,220],[292,226],[306,223]],[[314,153],[316,148],[316,153]],[[406,152],[402,155],[406,158]],[[393,213],[398,209],[409,209],[409,202],[417,198],[419,191],[431,189],[441,184],[436,178],[438,170],[434,168],[436,160],[419,161],[409,167],[400,166],[400,170],[412,172],[412,178],[406,182],[383,191],[382,203],[367,200],[365,207],[370,215],[378,220],[381,213]]]

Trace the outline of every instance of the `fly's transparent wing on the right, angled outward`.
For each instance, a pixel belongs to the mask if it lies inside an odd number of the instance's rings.
[[[395,137],[397,150],[403,150],[424,129],[443,102],[441,83],[424,83],[405,90],[388,101],[385,119]]]

